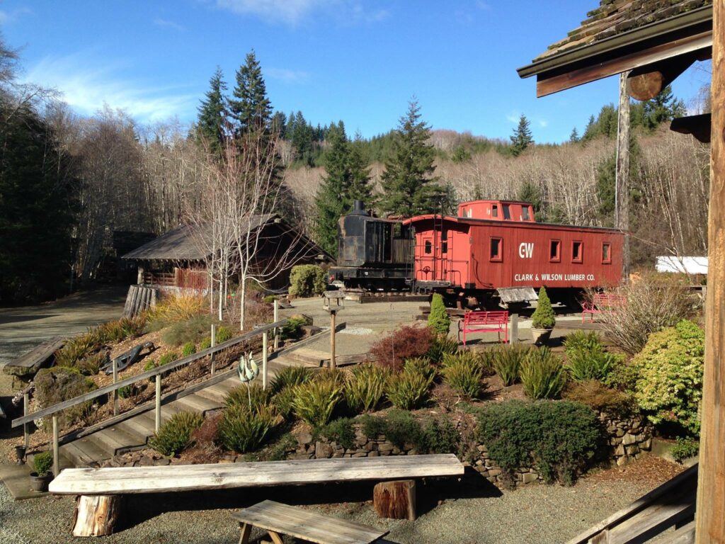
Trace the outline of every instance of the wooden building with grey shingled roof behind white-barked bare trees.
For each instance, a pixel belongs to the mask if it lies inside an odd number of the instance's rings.
[[[331,263],[333,258],[307,236],[289,226],[277,215],[254,215],[249,228],[242,229],[246,239],[254,243],[251,271],[284,270],[267,281],[269,289],[289,285],[292,264]],[[209,286],[207,264],[215,257],[209,223],[187,224],[172,228],[151,242],[123,255],[138,265],[138,285],[171,289],[204,291]],[[231,242],[234,246],[235,242]],[[230,260],[238,259],[236,250],[228,252]],[[218,255],[218,253],[217,253]],[[234,270],[234,263],[230,269]]]

